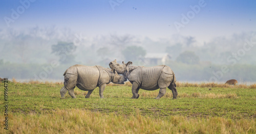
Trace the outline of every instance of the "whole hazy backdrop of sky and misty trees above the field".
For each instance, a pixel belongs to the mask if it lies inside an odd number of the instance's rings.
[[[256,82],[256,1],[1,1],[0,77],[63,79],[117,59],[178,81]]]

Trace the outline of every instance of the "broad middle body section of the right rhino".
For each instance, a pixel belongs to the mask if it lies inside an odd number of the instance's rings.
[[[142,83],[141,89],[156,90],[159,88],[158,79],[164,65],[154,67],[143,67],[141,71]]]

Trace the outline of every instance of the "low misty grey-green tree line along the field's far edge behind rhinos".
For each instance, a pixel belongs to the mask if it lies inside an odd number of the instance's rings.
[[[0,60],[0,77],[14,77],[16,79],[36,79],[39,77],[39,80],[42,81],[47,81],[48,79],[63,79],[62,74],[67,68],[73,65],[62,64],[57,67],[52,67],[51,64],[18,64],[1,61],[2,60]],[[237,79],[238,82],[256,82],[256,65],[226,65],[226,70],[228,71],[225,72],[221,71],[223,65],[215,64],[205,65],[199,63],[191,65],[170,61],[166,65],[173,69],[178,81],[215,82],[217,79],[217,82],[225,82],[228,79]],[[211,77],[216,78],[212,79]]]

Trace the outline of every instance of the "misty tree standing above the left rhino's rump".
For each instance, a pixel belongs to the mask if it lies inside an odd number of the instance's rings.
[[[72,54],[75,50],[76,46],[73,43],[58,42],[58,44],[52,45],[52,53],[59,57],[61,64],[75,63],[75,55]]]

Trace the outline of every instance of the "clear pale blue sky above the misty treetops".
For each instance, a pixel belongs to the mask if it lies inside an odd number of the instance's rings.
[[[32,0],[31,0],[32,1]],[[20,2],[29,2],[23,8]],[[110,2],[118,4],[114,10]],[[119,2],[119,3],[118,3]],[[203,3],[198,13],[182,24],[182,14],[193,11],[190,6]],[[22,6],[22,7],[20,7]],[[22,12],[12,18],[13,10]],[[22,11],[25,9],[24,11]],[[193,14],[190,14],[193,15]],[[7,26],[6,18],[13,19]],[[2,0],[0,29],[27,29],[33,26],[56,25],[88,36],[131,34],[152,39],[169,38],[180,34],[193,36],[203,42],[217,36],[256,31],[256,1],[40,1]]]

